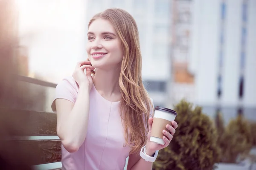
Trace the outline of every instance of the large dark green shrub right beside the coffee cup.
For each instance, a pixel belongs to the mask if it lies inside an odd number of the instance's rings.
[[[168,147],[159,151],[154,170],[212,170],[219,161],[216,129],[209,117],[185,100],[175,106],[178,128]]]

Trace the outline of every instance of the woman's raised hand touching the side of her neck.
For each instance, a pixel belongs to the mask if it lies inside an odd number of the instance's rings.
[[[76,69],[72,74],[73,78],[76,80],[79,87],[85,85],[89,88],[89,91],[93,85],[91,70],[94,70],[94,67],[90,64],[90,61],[78,62],[76,65]],[[86,74],[84,73],[84,69],[86,69]]]

